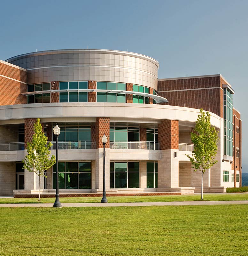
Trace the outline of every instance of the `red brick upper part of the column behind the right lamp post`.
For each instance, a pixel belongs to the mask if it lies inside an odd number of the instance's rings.
[[[108,137],[106,148],[109,148],[109,117],[97,117],[96,121],[96,148],[103,148],[102,136]]]

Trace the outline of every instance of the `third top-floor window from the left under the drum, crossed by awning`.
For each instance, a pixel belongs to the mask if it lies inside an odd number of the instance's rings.
[[[97,90],[126,91],[126,84],[113,82],[97,82]],[[97,92],[97,102],[126,102],[126,94]]]

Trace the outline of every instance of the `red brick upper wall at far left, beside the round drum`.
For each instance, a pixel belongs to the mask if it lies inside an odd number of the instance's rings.
[[[2,62],[0,62],[0,75],[7,76],[24,83],[27,82],[26,71]],[[22,92],[27,92],[27,84],[23,84],[3,76],[0,76],[0,105],[27,103],[27,96],[20,94]]]

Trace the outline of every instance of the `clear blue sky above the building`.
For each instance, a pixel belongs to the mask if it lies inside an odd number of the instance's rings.
[[[159,78],[219,72],[242,112],[248,172],[247,10],[246,0],[3,1],[0,59],[88,45],[151,56],[160,63]]]

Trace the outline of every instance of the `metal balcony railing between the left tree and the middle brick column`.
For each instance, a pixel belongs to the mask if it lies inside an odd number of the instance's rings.
[[[56,141],[51,141],[52,147],[56,149]],[[95,149],[96,141],[76,140],[76,141],[58,141],[58,149]]]

